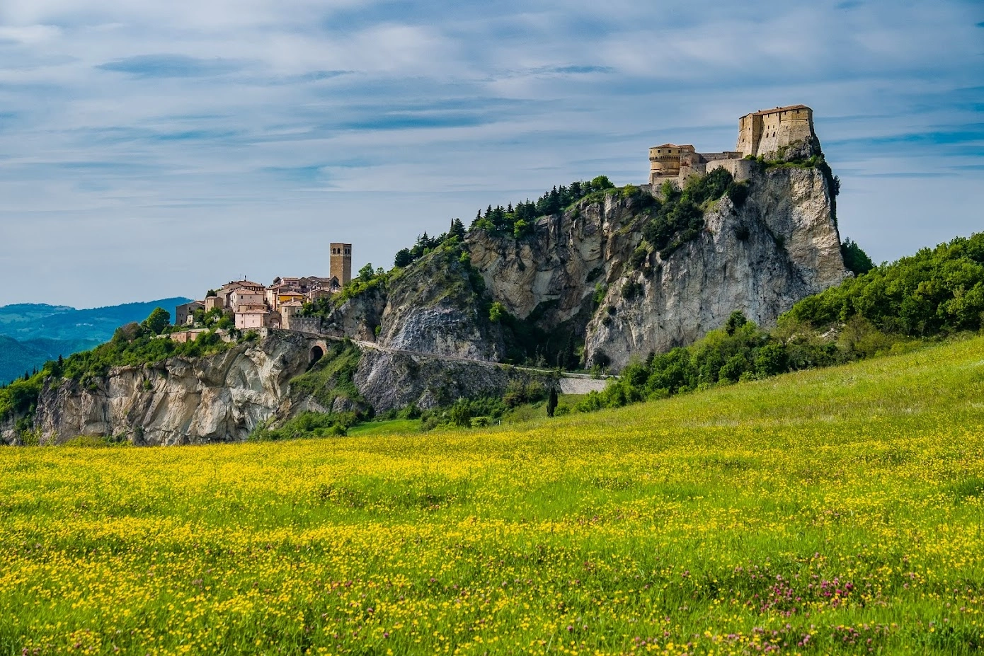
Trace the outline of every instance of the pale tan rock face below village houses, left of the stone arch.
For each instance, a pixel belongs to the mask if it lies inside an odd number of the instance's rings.
[[[112,370],[94,388],[61,381],[41,392],[34,425],[42,444],[80,435],[138,445],[244,440],[289,413],[289,381],[310,363],[310,339],[277,332],[206,358],[170,358]]]

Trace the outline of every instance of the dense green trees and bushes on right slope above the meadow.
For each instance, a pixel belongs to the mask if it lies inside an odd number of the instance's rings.
[[[590,394],[577,409],[904,352],[925,340],[981,328],[984,233],[923,249],[808,296],[769,330],[736,312],[690,346],[630,364],[620,381]]]

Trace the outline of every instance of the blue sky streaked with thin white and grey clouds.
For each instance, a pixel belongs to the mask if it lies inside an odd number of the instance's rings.
[[[873,260],[984,228],[978,0],[0,0],[0,305],[389,268],[798,103]]]

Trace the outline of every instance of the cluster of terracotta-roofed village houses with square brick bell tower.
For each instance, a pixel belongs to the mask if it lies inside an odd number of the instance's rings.
[[[331,245],[330,275],[321,277],[274,278],[271,285],[250,280],[233,280],[218,289],[210,289],[201,301],[177,306],[175,326],[192,327],[197,312],[220,310],[235,318],[239,330],[251,328],[281,328],[304,330],[306,322],[300,316],[305,303],[337,293],[352,278],[352,245]],[[194,335],[186,338],[194,339]]]

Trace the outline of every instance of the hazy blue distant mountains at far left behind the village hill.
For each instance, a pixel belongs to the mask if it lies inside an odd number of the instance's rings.
[[[59,355],[85,351],[113,336],[123,324],[147,319],[154,308],[171,313],[187,298],[164,298],[105,308],[20,303],[0,307],[0,383],[9,383]]]

